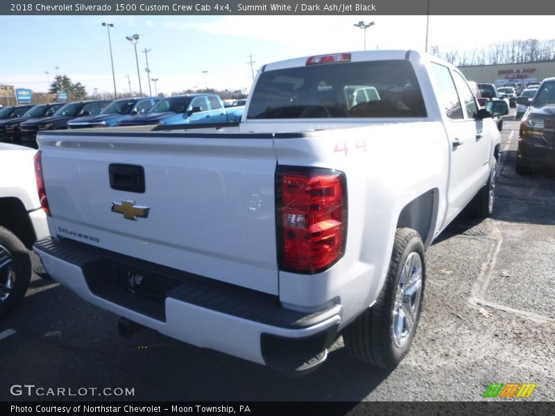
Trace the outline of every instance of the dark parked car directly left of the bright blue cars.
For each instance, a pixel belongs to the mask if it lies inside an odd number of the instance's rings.
[[[52,116],[24,121],[19,126],[21,143],[37,148],[37,132],[39,130],[65,129],[68,121],[80,116],[99,114],[111,102],[110,100],[75,101],[62,105]]]

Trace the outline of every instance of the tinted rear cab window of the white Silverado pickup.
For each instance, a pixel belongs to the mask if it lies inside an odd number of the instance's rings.
[[[346,62],[266,71],[247,119],[425,117],[407,60]]]

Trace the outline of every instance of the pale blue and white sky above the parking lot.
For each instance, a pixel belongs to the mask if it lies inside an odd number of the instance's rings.
[[[492,24],[492,19],[494,20]],[[113,92],[108,31],[110,28],[118,92],[139,91],[133,44],[137,42],[142,91],[148,94],[144,49],[157,91],[242,89],[248,91],[253,70],[268,62],[364,49],[358,21],[366,30],[367,49],[439,51],[485,48],[530,38],[555,38],[552,16],[0,16],[0,83],[45,92],[56,74],[80,82],[89,93]],[[56,69],[58,67],[58,69]],[[203,71],[206,71],[205,73]],[[46,73],[48,72],[48,73]],[[129,76],[129,78],[128,78]],[[129,81],[130,80],[130,86]],[[155,92],[151,83],[152,93]]]

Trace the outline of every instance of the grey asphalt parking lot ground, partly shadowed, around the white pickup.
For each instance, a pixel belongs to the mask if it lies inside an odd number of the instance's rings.
[[[415,343],[393,372],[353,360],[341,338],[301,378],[148,329],[123,338],[117,316],[35,276],[0,321],[0,399],[480,401],[490,383],[536,383],[524,400],[554,400],[555,174],[516,175],[517,139],[507,116],[493,218],[461,215],[429,248]],[[13,385],[67,390],[18,395]]]

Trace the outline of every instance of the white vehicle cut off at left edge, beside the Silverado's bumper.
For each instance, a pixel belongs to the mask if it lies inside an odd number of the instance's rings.
[[[35,153],[0,143],[0,318],[25,296],[32,272],[28,250],[49,235],[33,170]]]

